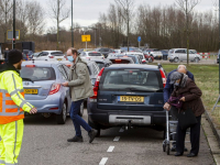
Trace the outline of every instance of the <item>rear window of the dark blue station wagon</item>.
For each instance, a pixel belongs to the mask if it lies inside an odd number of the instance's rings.
[[[100,90],[158,91],[163,82],[157,70],[118,69],[105,72],[99,87]]]

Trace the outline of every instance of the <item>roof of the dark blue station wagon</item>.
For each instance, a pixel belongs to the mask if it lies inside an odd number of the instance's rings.
[[[140,65],[140,64],[114,64],[108,67],[109,69],[119,69],[119,68],[140,68],[140,69],[153,69],[158,70],[156,65]]]

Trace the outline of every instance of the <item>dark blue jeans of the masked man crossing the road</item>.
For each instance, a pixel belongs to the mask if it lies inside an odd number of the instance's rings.
[[[81,136],[81,129],[82,127],[87,132],[91,131],[91,127],[79,116],[80,106],[84,100],[73,101],[72,109],[70,109],[70,118],[74,122],[75,131],[77,136]]]

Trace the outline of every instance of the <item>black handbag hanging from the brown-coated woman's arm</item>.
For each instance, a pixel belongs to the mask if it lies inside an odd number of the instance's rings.
[[[178,122],[182,130],[186,130],[191,125],[196,124],[198,121],[190,108],[186,111],[180,111],[178,114]]]

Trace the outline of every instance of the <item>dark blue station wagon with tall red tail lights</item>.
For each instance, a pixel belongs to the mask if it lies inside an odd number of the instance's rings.
[[[164,131],[165,70],[154,65],[111,65],[102,68],[87,101],[88,122],[97,129],[152,127]]]

